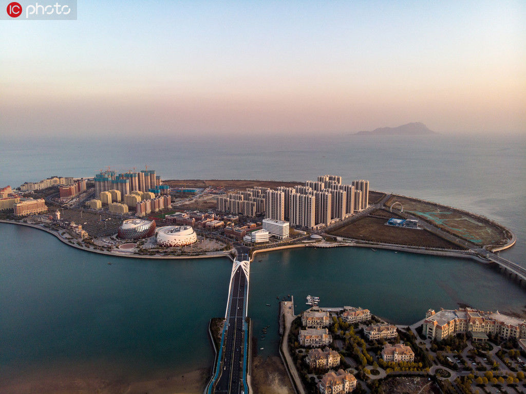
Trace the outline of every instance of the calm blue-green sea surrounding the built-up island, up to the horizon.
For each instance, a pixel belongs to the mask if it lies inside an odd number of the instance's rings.
[[[526,136],[146,134],[3,138],[0,186],[93,177],[108,166],[148,166],[162,179],[368,179],[372,190],[458,207],[508,227],[517,244],[501,256],[526,267]],[[207,324],[225,314],[230,260],[108,257],[10,224],[0,224],[0,256],[0,387],[63,369],[150,379],[211,367]],[[250,267],[248,314],[259,356],[278,354],[278,298],[294,296],[299,312],[308,294],[323,307],[361,306],[403,325],[429,308],[526,308],[526,287],[471,260],[351,247],[268,252]]]

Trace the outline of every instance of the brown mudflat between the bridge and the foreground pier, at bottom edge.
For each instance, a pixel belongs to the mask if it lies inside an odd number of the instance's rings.
[[[258,394],[294,394],[287,371],[279,357],[260,356],[252,361],[252,389]]]

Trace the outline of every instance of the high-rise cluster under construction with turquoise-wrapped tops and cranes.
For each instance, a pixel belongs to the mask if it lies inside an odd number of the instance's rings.
[[[160,194],[161,179],[160,176],[155,175],[155,170],[141,170],[138,173],[129,171],[124,174],[116,174],[115,171],[107,170],[101,171],[93,178],[95,183],[95,197],[99,197],[100,193],[109,190],[119,190],[125,196],[132,190],[138,191],[155,191],[158,190]],[[167,189],[163,186],[163,190]],[[168,189],[169,191],[169,189]]]

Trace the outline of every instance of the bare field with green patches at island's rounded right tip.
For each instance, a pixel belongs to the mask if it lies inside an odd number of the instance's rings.
[[[456,209],[400,196],[391,197],[386,206],[391,206],[395,201],[402,204],[404,211],[479,246],[503,245],[511,237],[507,230],[497,224]]]

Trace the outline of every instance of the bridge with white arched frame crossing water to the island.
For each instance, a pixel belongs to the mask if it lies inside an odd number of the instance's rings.
[[[245,255],[241,255],[244,257]],[[246,255],[248,260],[248,255]],[[248,261],[246,261],[248,264]],[[225,330],[222,337],[219,371],[211,380],[208,392],[216,394],[248,394],[246,385],[246,355],[248,324],[245,321],[248,301],[248,276],[242,263],[236,259],[232,268],[227,302]]]

